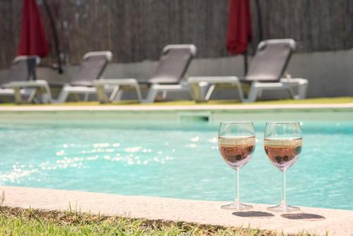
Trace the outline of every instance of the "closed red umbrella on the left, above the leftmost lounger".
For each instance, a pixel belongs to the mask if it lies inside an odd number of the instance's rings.
[[[22,30],[18,55],[38,55],[45,57],[49,47],[44,35],[40,13],[35,0],[23,0]]]

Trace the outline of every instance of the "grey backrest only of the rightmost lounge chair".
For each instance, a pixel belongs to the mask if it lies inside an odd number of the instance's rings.
[[[260,42],[246,74],[246,81],[279,81],[295,46],[296,43],[292,39]]]

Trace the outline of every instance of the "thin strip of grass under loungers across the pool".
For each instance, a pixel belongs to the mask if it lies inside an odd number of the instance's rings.
[[[120,102],[107,103],[103,105],[136,105],[136,106],[192,106],[192,105],[286,105],[286,104],[326,104],[326,103],[353,103],[353,97],[341,98],[309,98],[304,100],[270,100],[242,103],[239,100],[210,100],[208,102],[194,102],[191,100],[177,100],[168,102],[140,103],[136,100],[123,100]],[[2,103],[0,106],[13,106],[14,103]],[[33,105],[33,104],[24,104]],[[44,104],[41,104],[45,106]],[[54,106],[98,106],[99,102],[65,102],[61,104],[49,104]],[[23,106],[23,105],[22,105]]]

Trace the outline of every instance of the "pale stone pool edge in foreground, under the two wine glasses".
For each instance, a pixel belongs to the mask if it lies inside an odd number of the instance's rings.
[[[252,204],[252,211],[222,210],[222,201],[121,196],[83,191],[0,187],[4,206],[42,210],[71,209],[105,216],[173,220],[207,225],[260,228],[278,232],[311,232],[317,235],[353,235],[353,211],[301,207],[300,213],[281,216],[266,211],[268,205]],[[348,199],[347,199],[348,200]]]

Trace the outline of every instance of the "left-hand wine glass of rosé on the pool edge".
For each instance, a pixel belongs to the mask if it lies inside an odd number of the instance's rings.
[[[251,122],[222,122],[218,132],[218,148],[225,163],[230,165],[237,173],[237,195],[234,203],[222,206],[223,209],[243,211],[252,209],[240,203],[239,196],[239,170],[249,162],[255,151],[256,138]]]

